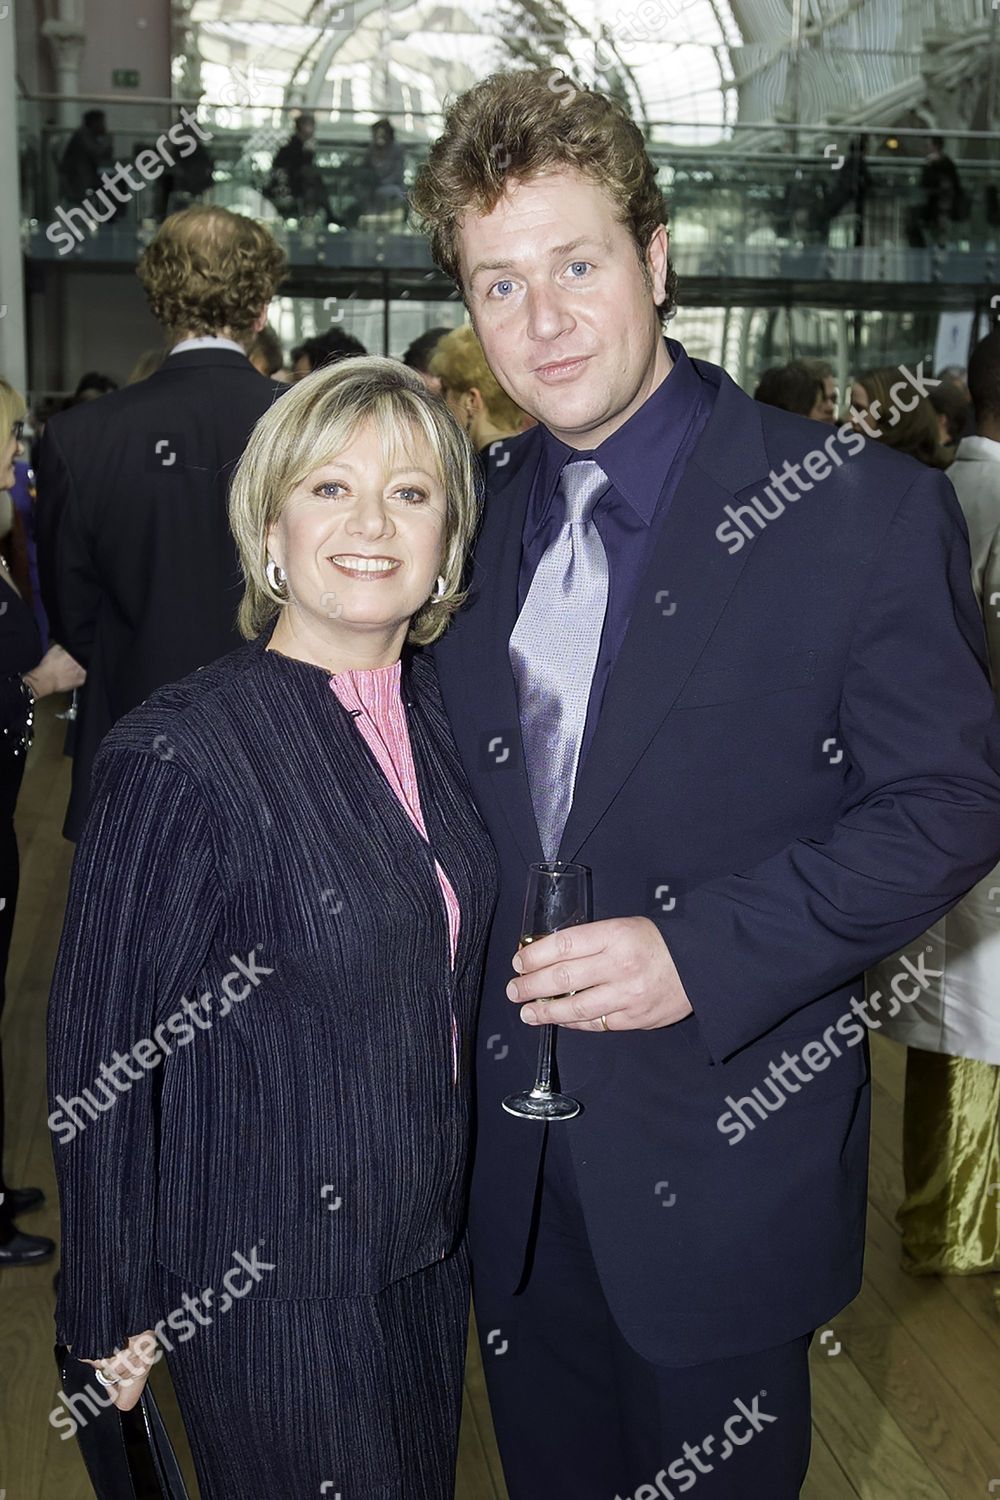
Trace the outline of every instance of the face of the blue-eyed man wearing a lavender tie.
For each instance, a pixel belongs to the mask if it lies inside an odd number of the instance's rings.
[[[579,172],[514,182],[492,213],[466,213],[459,261],[490,369],[570,447],[597,447],[669,374],[655,306],[667,232],[655,231],[643,276],[610,198]]]

